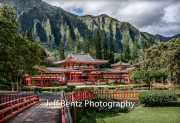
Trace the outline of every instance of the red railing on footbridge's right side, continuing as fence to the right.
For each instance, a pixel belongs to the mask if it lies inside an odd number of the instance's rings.
[[[86,99],[95,99],[95,98],[115,98],[115,99],[137,99],[137,95],[140,91],[125,91],[125,90],[97,90],[97,91],[82,91],[75,93],[64,93],[61,94],[61,101],[65,102],[75,102]],[[62,123],[71,123],[69,119],[71,119],[71,115],[68,112],[68,107],[62,105]]]

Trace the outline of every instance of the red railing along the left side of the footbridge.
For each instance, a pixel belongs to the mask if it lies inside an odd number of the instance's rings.
[[[39,103],[39,95],[1,95],[0,106],[8,106],[0,110],[0,123],[8,120],[24,109]]]

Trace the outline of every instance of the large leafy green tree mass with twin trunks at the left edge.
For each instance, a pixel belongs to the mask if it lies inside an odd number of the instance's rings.
[[[14,91],[13,78],[17,91],[21,91],[24,74],[35,73],[36,69],[33,66],[39,64],[47,54],[43,46],[19,33],[14,16],[12,7],[8,5],[0,7],[0,72],[9,75],[12,91]]]

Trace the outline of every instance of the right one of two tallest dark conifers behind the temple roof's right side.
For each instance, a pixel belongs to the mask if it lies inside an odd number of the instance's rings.
[[[103,29],[102,33],[102,50],[103,50],[103,59],[108,59],[108,45],[107,45],[107,39],[106,39],[106,33]]]

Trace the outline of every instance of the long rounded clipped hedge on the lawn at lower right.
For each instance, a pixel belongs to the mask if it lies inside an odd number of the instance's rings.
[[[176,101],[178,95],[172,91],[142,91],[138,94],[140,104],[157,105]]]

